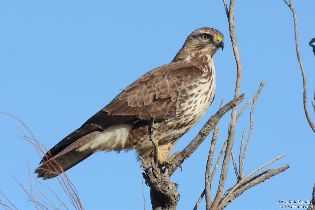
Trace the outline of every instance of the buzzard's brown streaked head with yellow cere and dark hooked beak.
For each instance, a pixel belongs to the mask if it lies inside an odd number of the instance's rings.
[[[214,28],[198,28],[187,37],[173,61],[186,60],[196,53],[212,57],[219,48],[224,48],[223,34],[220,31]]]

